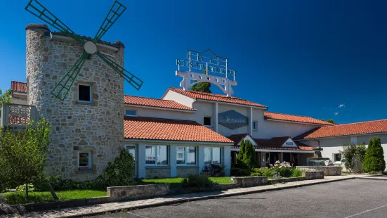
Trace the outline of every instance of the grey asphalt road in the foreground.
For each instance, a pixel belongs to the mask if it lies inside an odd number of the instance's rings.
[[[387,217],[387,181],[351,179],[96,217]]]

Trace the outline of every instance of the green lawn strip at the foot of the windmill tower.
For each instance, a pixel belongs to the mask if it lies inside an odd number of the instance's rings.
[[[10,205],[25,204],[25,203],[38,203],[44,201],[53,201],[53,196],[49,191],[37,191],[29,192],[28,200],[25,198],[25,192],[7,192],[3,193],[7,199],[7,203]],[[94,198],[106,196],[106,191],[93,191],[93,190],[72,190],[72,191],[57,191],[59,200],[70,200],[80,198]]]

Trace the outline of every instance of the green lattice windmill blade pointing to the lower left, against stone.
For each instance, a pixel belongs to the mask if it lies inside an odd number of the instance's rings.
[[[66,75],[60,79],[60,82],[55,85],[53,91],[51,91],[51,94],[53,94],[55,98],[59,98],[62,101],[65,100],[68,92],[72,88],[72,84],[74,84],[75,79],[78,77],[79,71],[86,61],[87,56],[88,53],[84,51],[81,58],[77,60],[77,63],[75,63],[72,68],[67,71]],[[65,91],[64,94],[63,91]]]

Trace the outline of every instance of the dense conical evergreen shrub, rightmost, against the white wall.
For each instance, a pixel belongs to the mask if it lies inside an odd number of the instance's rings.
[[[365,172],[381,172],[386,169],[386,161],[384,160],[384,152],[379,137],[369,140],[363,169]]]

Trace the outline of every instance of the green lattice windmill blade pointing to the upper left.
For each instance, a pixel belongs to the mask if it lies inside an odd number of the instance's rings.
[[[43,20],[48,25],[51,25],[56,30],[59,30],[60,32],[65,32],[69,37],[72,37],[72,39],[79,41],[81,44],[85,44],[85,41],[81,39],[81,37],[78,37],[77,34],[75,34],[75,32],[70,29],[70,27],[67,27],[67,25],[65,25],[62,21],[55,17],[55,15],[48,11],[47,8],[45,8],[42,4],[39,3],[39,1],[29,1],[27,6],[25,7],[25,10],[37,16],[40,20]]]

